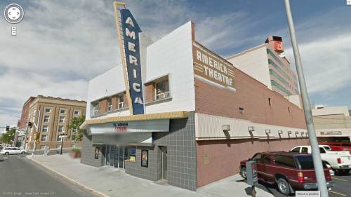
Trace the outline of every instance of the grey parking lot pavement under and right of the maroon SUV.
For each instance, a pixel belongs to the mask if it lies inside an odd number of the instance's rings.
[[[335,175],[333,176],[333,181],[336,185],[329,191],[329,197],[343,197],[351,196],[351,174],[350,175]],[[286,195],[280,193],[277,189],[277,185],[261,183],[258,188],[263,189],[273,196],[284,197]],[[295,195],[292,195],[295,196]]]

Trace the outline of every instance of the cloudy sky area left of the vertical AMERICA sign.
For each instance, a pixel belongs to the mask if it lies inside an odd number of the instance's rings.
[[[17,36],[0,26],[0,125],[29,96],[85,100],[88,79],[120,61],[112,2],[30,1]]]

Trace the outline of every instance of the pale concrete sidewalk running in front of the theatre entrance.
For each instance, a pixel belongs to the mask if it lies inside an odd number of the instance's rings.
[[[72,182],[91,189],[98,196],[118,197],[177,197],[177,196],[250,196],[249,185],[240,182],[239,175],[227,177],[218,182],[197,189],[197,192],[180,189],[176,186],[161,185],[146,179],[133,177],[117,168],[95,168],[79,163],[79,159],[69,158],[67,154],[52,156],[27,156],[35,163],[66,177]],[[246,190],[245,190],[246,189]],[[256,189],[256,196],[272,196],[272,194]],[[249,193],[249,194],[248,194]]]

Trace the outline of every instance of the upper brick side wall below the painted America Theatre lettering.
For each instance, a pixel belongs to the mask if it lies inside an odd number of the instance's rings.
[[[295,104],[239,69],[234,68],[234,77],[236,92],[194,79],[196,112],[254,123],[306,128],[303,110]],[[239,113],[239,107],[244,108],[244,114]]]

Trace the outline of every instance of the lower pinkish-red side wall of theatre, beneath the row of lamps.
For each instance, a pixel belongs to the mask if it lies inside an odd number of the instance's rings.
[[[307,145],[308,139],[197,141],[197,186],[204,186],[239,172],[240,161],[262,151],[289,151]]]

